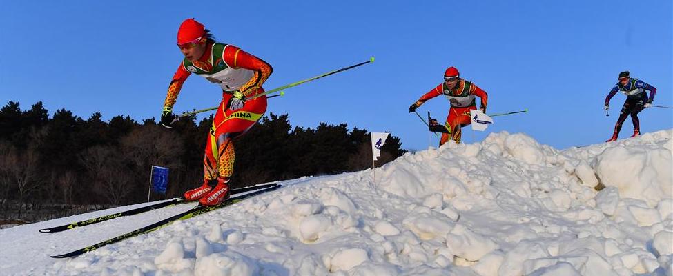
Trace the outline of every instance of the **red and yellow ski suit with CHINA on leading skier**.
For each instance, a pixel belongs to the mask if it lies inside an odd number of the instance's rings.
[[[194,62],[184,59],[168,86],[164,106],[173,107],[184,81],[195,73],[222,88],[222,101],[215,113],[206,152],[204,154],[204,179],[231,177],[235,160],[232,140],[248,131],[266,112],[266,96],[245,102],[239,110],[229,110],[228,103],[234,92],[245,97],[264,93],[262,84],[273,68],[262,59],[223,43],[209,43],[204,55]]]

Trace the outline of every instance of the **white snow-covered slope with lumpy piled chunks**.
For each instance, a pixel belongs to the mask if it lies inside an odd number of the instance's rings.
[[[280,190],[72,259],[193,204],[0,230],[2,275],[671,275],[673,130],[556,150],[500,132]],[[606,186],[600,192],[595,186]],[[137,207],[137,206],[136,206]]]

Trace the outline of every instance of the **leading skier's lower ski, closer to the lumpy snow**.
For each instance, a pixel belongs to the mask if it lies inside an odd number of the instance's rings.
[[[281,187],[281,185],[276,185],[276,186],[271,186],[269,188],[255,190],[252,193],[248,193],[248,194],[245,194],[245,195],[240,195],[238,197],[232,197],[232,198],[227,199],[226,201],[222,202],[221,204],[217,204],[215,206],[198,205],[198,206],[195,206],[194,208],[192,208],[190,210],[184,211],[183,213],[179,213],[177,215],[174,215],[173,217],[168,217],[167,219],[164,219],[162,221],[157,221],[154,224],[150,224],[150,225],[145,226],[143,228],[138,228],[137,230],[133,230],[133,231],[131,231],[129,233],[126,233],[124,235],[119,235],[117,237],[113,237],[112,239],[108,239],[104,242],[99,242],[98,244],[93,244],[91,246],[86,246],[84,248],[72,251],[70,253],[66,253],[66,254],[63,254],[63,255],[55,255],[55,256],[50,256],[50,257],[56,258],[56,259],[76,257],[76,256],[82,255],[84,253],[87,253],[87,252],[96,250],[98,248],[101,248],[103,246],[106,246],[108,244],[114,244],[115,242],[119,242],[119,241],[122,241],[124,239],[128,239],[130,237],[134,237],[134,236],[137,236],[137,235],[140,235],[140,234],[152,232],[152,231],[157,230],[159,228],[162,228],[164,226],[168,226],[173,221],[190,219],[192,217],[196,217],[197,215],[202,215],[204,213],[208,213],[212,210],[217,210],[217,209],[220,209],[220,208],[223,208],[223,207],[226,207],[226,206],[230,206],[231,204],[235,204],[239,201],[242,201],[243,199],[247,199],[248,197],[253,197],[255,195],[260,195],[262,193],[266,193],[266,192],[270,192],[272,190],[276,190],[277,188],[280,188],[280,187]]]

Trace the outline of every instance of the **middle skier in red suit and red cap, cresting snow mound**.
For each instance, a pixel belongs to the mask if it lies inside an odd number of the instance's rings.
[[[418,101],[409,106],[409,112],[416,111],[416,108],[425,103],[425,101],[439,95],[445,95],[451,104],[445,123],[448,133],[442,133],[439,145],[442,146],[449,141],[449,136],[456,143],[460,143],[461,127],[471,124],[469,110],[477,109],[474,96],[480,97],[481,106],[479,109],[486,113],[488,94],[474,83],[461,79],[458,69],[451,66],[444,73],[444,82],[433,88],[433,90],[430,90],[430,92],[425,93]]]

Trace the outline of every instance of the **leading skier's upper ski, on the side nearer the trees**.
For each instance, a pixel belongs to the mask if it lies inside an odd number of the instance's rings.
[[[232,189],[230,193],[231,193],[231,195],[236,195],[236,194],[239,194],[239,193],[246,193],[246,192],[249,192],[251,190],[260,190],[260,189],[263,189],[263,188],[269,188],[269,187],[274,187],[274,186],[277,186],[277,184],[272,183],[272,184],[264,184],[264,185],[257,185],[257,186],[251,186],[251,187],[237,188],[237,189]],[[156,209],[159,209],[159,208],[164,208],[164,207],[173,206],[173,205],[177,205],[177,204],[185,204],[185,203],[188,203],[188,202],[193,202],[193,201],[186,201],[182,198],[175,198],[175,199],[170,199],[168,201],[163,201],[163,202],[159,202],[159,203],[152,204],[152,205],[135,208],[135,209],[132,209],[132,210],[126,210],[124,212],[119,212],[119,213],[104,215],[104,216],[101,216],[101,217],[95,217],[95,218],[87,219],[87,220],[83,220],[83,221],[73,222],[72,224],[64,224],[64,225],[55,226],[55,227],[52,227],[52,228],[44,228],[44,229],[40,229],[39,231],[41,233],[56,233],[56,232],[61,232],[61,231],[65,231],[65,230],[70,230],[70,229],[76,228],[76,227],[87,226],[87,225],[90,225],[90,224],[97,224],[99,222],[107,221],[107,220],[110,220],[110,219],[116,219],[117,217],[126,217],[126,216],[130,216],[130,215],[137,215],[139,213],[145,213],[145,212],[148,212],[150,210],[156,210]]]

